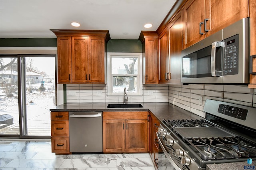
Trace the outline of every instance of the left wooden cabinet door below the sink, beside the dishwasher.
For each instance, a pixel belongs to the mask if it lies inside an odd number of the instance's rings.
[[[125,151],[125,120],[103,120],[103,152]]]

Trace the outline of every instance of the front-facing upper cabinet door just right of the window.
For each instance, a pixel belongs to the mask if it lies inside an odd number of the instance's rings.
[[[158,83],[158,38],[145,38],[145,83]]]

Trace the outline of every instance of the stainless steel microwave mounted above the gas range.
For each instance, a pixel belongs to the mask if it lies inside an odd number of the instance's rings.
[[[182,83],[249,83],[249,18],[182,50]]]

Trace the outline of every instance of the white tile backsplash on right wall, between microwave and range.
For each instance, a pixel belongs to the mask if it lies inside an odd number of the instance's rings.
[[[201,117],[206,99],[256,107],[256,91],[246,85],[169,85],[168,102]]]

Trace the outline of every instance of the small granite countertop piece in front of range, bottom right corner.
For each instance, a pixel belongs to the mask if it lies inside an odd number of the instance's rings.
[[[247,164],[247,162],[232,162],[223,164],[209,164],[206,165],[206,170],[255,170],[256,160],[252,161],[252,164]]]

